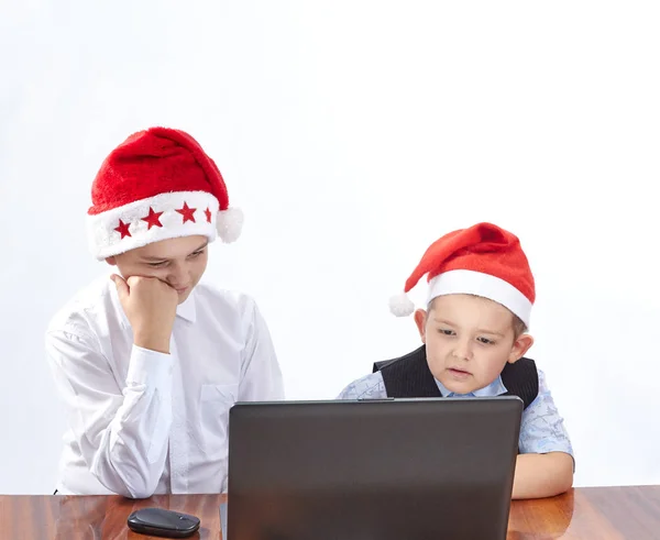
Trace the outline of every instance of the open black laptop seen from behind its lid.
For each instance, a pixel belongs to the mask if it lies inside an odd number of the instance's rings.
[[[224,540],[505,540],[517,397],[239,403]]]

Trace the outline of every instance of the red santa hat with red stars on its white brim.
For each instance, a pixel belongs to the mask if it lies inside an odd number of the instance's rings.
[[[178,236],[220,235],[229,243],[243,225],[218,166],[189,134],[167,128],[141,131],[114,148],[91,201],[87,229],[98,260]]]

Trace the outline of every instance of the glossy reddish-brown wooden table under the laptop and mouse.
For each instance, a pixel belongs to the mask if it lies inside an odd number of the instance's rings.
[[[116,496],[0,496],[0,539],[134,539],[127,518],[145,506],[194,514],[194,539],[220,539],[221,495],[157,495],[146,500]],[[660,486],[576,488],[560,497],[515,502],[508,540],[660,539]]]

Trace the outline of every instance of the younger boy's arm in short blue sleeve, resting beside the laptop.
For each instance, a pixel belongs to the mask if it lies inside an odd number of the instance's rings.
[[[573,448],[543,372],[539,394],[522,412],[513,498],[552,497],[573,485]]]

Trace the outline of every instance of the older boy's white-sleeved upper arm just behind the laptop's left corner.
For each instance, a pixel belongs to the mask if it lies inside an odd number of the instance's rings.
[[[248,300],[248,334],[241,365],[240,401],[284,399],[284,382],[266,321],[256,304]]]

